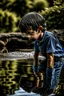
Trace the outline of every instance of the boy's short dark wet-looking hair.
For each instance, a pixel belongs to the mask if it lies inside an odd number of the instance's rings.
[[[29,12],[22,17],[19,22],[21,32],[26,32],[28,28],[37,30],[38,26],[46,27],[45,18],[37,12]]]

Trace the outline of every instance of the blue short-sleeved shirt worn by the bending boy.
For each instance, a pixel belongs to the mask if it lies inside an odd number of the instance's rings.
[[[54,53],[54,56],[57,57],[64,56],[59,40],[52,32],[49,31],[44,32],[40,42],[38,40],[35,41],[34,51],[41,52],[41,54],[45,57],[47,53]]]

